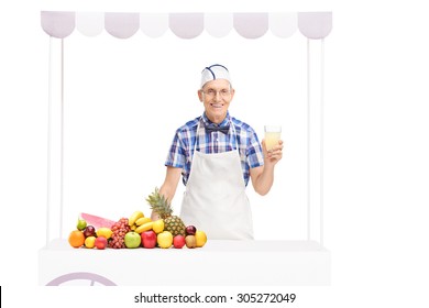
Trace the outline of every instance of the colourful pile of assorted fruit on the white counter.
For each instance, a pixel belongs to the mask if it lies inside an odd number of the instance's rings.
[[[196,249],[206,244],[206,233],[195,226],[185,226],[178,216],[173,216],[170,204],[157,188],[146,201],[161,219],[152,221],[141,210],[118,221],[80,213],[76,229],[68,235],[68,243],[75,249],[96,250]]]

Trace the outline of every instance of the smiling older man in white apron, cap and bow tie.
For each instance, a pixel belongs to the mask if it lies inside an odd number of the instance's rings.
[[[198,98],[205,112],[176,131],[160,188],[172,201],[183,176],[186,193],[180,218],[210,239],[253,239],[245,187],[250,178],[257,194],[267,194],[282,158],[282,141],[268,152],[249,124],[229,114],[234,92],[224,66],[202,70]]]

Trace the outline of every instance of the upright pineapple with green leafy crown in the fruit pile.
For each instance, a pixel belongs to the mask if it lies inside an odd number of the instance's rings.
[[[185,237],[185,223],[178,216],[173,216],[172,204],[163,196],[160,195],[160,189],[156,187],[146,201],[151,206],[151,209],[156,212],[164,220],[164,230],[169,231],[173,237],[182,234]]]

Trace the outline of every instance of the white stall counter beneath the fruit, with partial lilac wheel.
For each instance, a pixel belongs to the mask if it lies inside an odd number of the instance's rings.
[[[38,252],[40,285],[329,285],[330,252],[315,241],[209,240],[197,249],[74,249]],[[147,277],[151,277],[150,279]]]

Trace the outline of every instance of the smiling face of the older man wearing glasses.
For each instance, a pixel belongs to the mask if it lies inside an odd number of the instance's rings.
[[[202,90],[198,91],[199,100],[202,101],[207,118],[213,123],[221,123],[227,117],[227,111],[234,90],[226,79],[216,79],[208,81]]]

